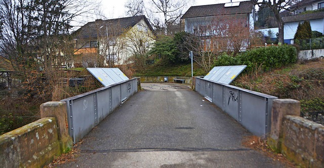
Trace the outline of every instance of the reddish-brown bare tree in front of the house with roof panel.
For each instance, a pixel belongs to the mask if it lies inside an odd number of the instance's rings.
[[[237,16],[215,17],[210,25],[200,25],[185,40],[194,52],[195,62],[209,72],[221,53],[235,55],[249,45],[247,20]],[[244,47],[244,48],[242,48]]]

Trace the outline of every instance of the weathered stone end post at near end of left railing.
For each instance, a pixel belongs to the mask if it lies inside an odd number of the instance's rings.
[[[73,146],[72,138],[68,132],[66,103],[64,101],[48,101],[41,104],[41,118],[55,117],[59,127],[59,141],[61,151]]]

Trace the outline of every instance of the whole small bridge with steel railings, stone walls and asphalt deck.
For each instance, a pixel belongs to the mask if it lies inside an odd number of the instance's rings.
[[[41,120],[0,136],[0,166],[42,167],[72,143],[75,160],[55,166],[286,166],[243,146],[251,135],[302,166],[323,165],[324,127],[297,117],[298,101],[203,78],[194,83],[196,91],[172,83],[142,83],[139,91],[135,78],[44,103]]]

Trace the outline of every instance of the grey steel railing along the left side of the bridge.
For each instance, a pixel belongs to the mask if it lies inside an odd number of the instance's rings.
[[[76,143],[116,107],[137,92],[137,79],[112,84],[63,99],[67,106],[69,134]]]

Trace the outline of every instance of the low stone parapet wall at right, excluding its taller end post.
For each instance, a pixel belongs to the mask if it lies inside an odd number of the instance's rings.
[[[285,116],[281,153],[303,167],[324,167],[324,126],[302,117]]]

